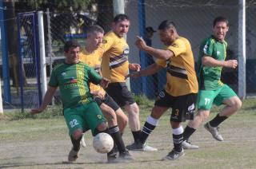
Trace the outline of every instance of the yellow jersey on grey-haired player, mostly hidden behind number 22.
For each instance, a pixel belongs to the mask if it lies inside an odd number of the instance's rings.
[[[85,49],[83,49],[82,52],[79,54],[79,61],[86,63],[90,67],[94,68],[94,70],[99,75],[102,75],[101,63],[102,63],[103,53],[104,53],[104,50],[102,49],[102,47],[99,47],[97,50],[94,51],[94,53],[88,53]],[[98,90],[105,92],[102,86],[94,85],[93,83],[90,83],[90,91],[98,91]]]

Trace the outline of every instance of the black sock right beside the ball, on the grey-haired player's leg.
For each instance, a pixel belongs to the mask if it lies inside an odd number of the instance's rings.
[[[118,151],[120,153],[126,151],[125,143],[123,143],[122,136],[120,135],[118,126],[109,128],[110,136],[112,136],[114,143],[118,146]]]

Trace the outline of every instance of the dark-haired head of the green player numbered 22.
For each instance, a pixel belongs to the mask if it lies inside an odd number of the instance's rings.
[[[80,52],[80,45],[78,41],[66,41],[64,45],[64,55],[66,57],[66,63],[76,64],[79,62],[78,54]]]

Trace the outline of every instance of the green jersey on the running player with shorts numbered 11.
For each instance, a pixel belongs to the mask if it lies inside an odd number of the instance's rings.
[[[208,56],[213,57],[218,61],[225,61],[226,47],[226,41],[218,41],[216,38],[214,38],[214,36],[210,36],[202,41],[198,57],[199,89],[216,90],[222,87],[222,66],[210,67],[202,65],[202,57]]]

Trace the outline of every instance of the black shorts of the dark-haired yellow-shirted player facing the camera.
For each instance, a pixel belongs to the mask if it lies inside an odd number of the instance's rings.
[[[106,92],[114,99],[120,107],[134,104],[135,100],[128,90],[125,82],[110,83],[106,88]]]

